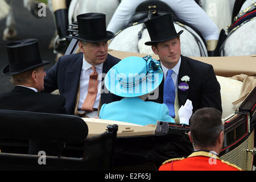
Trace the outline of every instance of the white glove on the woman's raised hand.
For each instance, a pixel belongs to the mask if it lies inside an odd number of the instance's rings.
[[[187,99],[185,105],[184,106],[182,105],[178,111],[181,124],[186,124],[186,125],[189,124],[189,119],[192,115],[192,110],[193,110],[192,102]]]

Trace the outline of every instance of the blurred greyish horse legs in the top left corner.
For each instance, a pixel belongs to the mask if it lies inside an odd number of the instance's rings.
[[[15,5],[15,1],[13,0],[5,0],[5,2],[9,5],[9,13],[6,18],[6,28],[3,31],[3,40],[11,40],[15,39],[17,35],[17,31],[15,28],[15,17],[13,12],[13,6]],[[51,0],[48,0],[51,2]],[[37,7],[38,1],[36,0],[23,0],[23,6],[28,11],[30,11],[33,15],[37,16],[38,12],[34,7]]]

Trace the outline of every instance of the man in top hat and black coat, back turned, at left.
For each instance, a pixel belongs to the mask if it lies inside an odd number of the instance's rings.
[[[38,40],[18,40],[7,44],[6,48],[9,64],[3,68],[2,74],[11,76],[15,87],[11,92],[0,94],[0,109],[67,114],[64,97],[41,92],[46,76],[43,66],[50,62],[41,59]],[[34,142],[30,154],[38,154],[40,150],[48,155],[56,154],[55,144]]]

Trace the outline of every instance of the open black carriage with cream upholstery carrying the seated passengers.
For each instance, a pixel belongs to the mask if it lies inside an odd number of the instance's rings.
[[[77,40],[72,39],[66,54],[78,52],[77,43]],[[109,51],[109,53],[120,59],[130,55],[143,56],[138,53],[121,51]],[[255,154],[256,88],[254,85],[249,94],[246,94],[240,102],[238,101],[238,105],[232,105],[231,100],[236,101],[240,94],[234,96],[232,92],[224,88],[225,86],[235,86],[236,89],[241,89],[245,84],[243,82],[240,85],[234,85],[235,82],[230,84],[226,82],[226,77],[241,73],[255,76],[255,67],[252,66],[255,65],[255,57],[197,57],[196,59],[209,61],[208,63],[213,65],[221,85],[224,111],[222,118],[225,128],[221,159],[236,164],[244,170],[251,170]],[[241,60],[243,60],[242,63],[240,63]],[[226,67],[225,64],[231,66]],[[241,64],[249,66],[245,68]],[[240,93],[240,90],[238,91]],[[242,104],[240,104],[241,102]],[[6,112],[10,113],[6,114]],[[5,121],[0,122],[0,138],[44,138],[57,142],[60,149],[57,156],[46,156],[46,165],[39,165],[39,160],[42,158],[40,155],[2,152],[0,153],[1,169],[157,170],[165,160],[186,157],[193,151],[192,143],[187,135],[189,126],[179,123],[158,121],[155,126],[138,126],[128,123],[129,121],[125,123],[80,118],[73,115],[44,115],[48,116],[46,126],[43,124],[46,121],[43,121],[42,113],[19,113],[19,111],[5,110],[0,112],[1,121]],[[30,131],[34,132],[23,131],[20,126],[24,126],[26,122],[31,124],[33,119],[38,121],[30,127]],[[20,122],[15,125],[6,124],[17,120]],[[49,121],[55,125],[51,125]],[[8,130],[12,128],[11,126],[17,127],[13,127],[15,129],[10,132]],[[38,129],[39,126],[45,130]],[[51,127],[51,129],[47,130],[47,127]],[[80,129],[78,130],[78,128]],[[4,132],[5,130],[8,132]],[[20,146],[20,143],[17,144],[17,142],[15,144],[11,144],[10,141],[9,143],[1,142],[1,146],[5,144]],[[28,147],[26,142],[23,143],[23,147]]]

